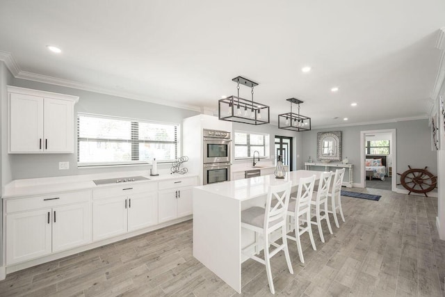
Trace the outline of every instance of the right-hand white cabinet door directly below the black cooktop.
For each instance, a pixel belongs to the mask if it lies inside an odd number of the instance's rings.
[[[158,223],[158,194],[147,192],[128,196],[128,230],[138,230]]]

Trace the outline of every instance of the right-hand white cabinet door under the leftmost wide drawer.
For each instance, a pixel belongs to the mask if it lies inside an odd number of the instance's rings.
[[[53,252],[91,242],[90,202],[52,209]]]

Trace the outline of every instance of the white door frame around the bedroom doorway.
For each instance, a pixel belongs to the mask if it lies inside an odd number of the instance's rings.
[[[369,131],[360,131],[360,188],[364,188],[366,185],[366,173],[364,168],[364,159],[365,159],[365,141],[366,134],[375,134],[375,133],[391,133],[391,141],[389,142],[389,152],[392,154],[392,172],[393,175],[391,177],[391,191],[396,191],[396,176],[394,172],[397,172],[397,143],[396,143],[396,129],[382,129],[382,130],[369,130]]]

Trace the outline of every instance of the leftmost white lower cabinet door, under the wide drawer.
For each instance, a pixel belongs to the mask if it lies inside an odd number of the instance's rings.
[[[6,215],[6,264],[51,254],[51,209]]]

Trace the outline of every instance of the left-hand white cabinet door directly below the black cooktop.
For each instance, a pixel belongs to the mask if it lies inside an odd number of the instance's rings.
[[[127,232],[127,196],[92,203],[92,239],[106,239]]]

